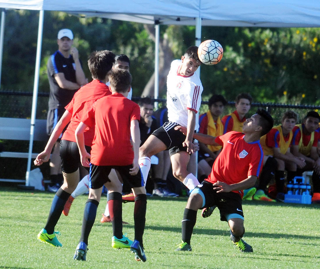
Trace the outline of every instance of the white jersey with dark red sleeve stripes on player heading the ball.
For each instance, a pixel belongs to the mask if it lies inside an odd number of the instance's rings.
[[[181,60],[172,61],[167,77],[168,119],[170,122],[187,126],[188,110],[196,113],[199,111],[203,87],[196,73],[191,76],[178,74],[181,64]],[[198,117],[196,117],[195,130],[198,128]]]

